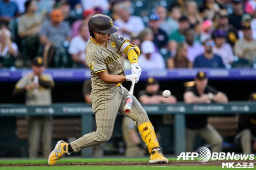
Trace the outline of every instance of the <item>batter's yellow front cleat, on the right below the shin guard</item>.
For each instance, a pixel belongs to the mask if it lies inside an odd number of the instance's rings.
[[[162,155],[162,149],[160,147],[152,149],[149,163],[168,164],[168,160]]]

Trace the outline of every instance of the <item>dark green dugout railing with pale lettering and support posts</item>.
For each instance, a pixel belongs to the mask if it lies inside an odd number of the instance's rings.
[[[148,115],[174,115],[175,154],[185,151],[186,114],[248,114],[256,113],[256,102],[229,102],[227,104],[158,104],[142,105]],[[92,132],[92,109],[83,103],[58,103],[50,106],[25,106],[23,104],[0,104],[0,116],[81,116],[81,135]],[[92,150],[82,150],[83,157],[90,157]]]

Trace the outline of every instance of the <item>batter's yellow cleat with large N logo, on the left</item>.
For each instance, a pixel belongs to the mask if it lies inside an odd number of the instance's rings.
[[[68,144],[65,143],[64,141],[58,141],[54,150],[50,153],[48,157],[49,166],[53,166],[59,159],[67,155],[70,155],[70,153],[67,152],[67,145]]]

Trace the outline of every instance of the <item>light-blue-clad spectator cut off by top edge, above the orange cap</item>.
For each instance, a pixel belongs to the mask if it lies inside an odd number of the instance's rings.
[[[53,7],[54,0],[35,0],[37,6],[37,13],[42,14],[42,16],[47,16]]]

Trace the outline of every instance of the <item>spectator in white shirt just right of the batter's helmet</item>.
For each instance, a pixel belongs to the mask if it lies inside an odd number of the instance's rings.
[[[144,23],[141,17],[130,15],[129,8],[124,3],[119,3],[116,6],[119,18],[114,21],[119,27],[118,34],[130,39],[131,33],[139,33],[144,29]]]

